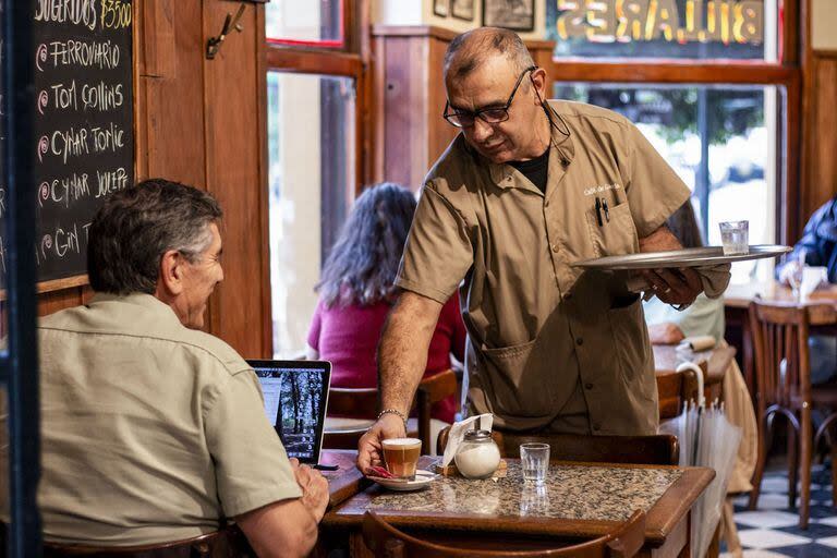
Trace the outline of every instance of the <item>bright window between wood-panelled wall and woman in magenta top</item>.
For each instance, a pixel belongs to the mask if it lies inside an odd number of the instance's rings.
[[[350,0],[266,5],[274,354],[298,356],[314,291],[361,182],[364,64]],[[365,33],[365,29],[363,31]]]

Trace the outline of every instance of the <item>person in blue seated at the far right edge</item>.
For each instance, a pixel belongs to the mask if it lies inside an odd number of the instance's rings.
[[[802,239],[793,245],[776,275],[785,286],[799,272],[799,267],[824,266],[828,282],[837,283],[837,195],[826,202],[809,219]],[[834,336],[811,336],[811,383],[824,384],[837,375],[837,339]]]

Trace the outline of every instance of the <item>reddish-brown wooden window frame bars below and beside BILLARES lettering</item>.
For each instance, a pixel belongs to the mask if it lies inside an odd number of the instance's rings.
[[[555,0],[547,0],[555,1]],[[791,211],[800,201],[800,154],[802,126],[802,71],[800,65],[800,4],[803,0],[778,0],[780,28],[779,56],[776,62],[729,59],[650,59],[553,57],[547,90],[556,82],[595,84],[654,85],[774,85],[784,88],[779,104],[779,144],[776,157],[776,234],[777,242],[787,243],[797,236],[799,216]],[[560,78],[558,78],[560,77]]]

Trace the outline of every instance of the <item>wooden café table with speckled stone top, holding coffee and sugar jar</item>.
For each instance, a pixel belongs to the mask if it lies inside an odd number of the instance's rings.
[[[436,460],[422,457],[420,468]],[[691,510],[715,476],[706,468],[556,461],[538,489],[524,485],[519,460],[507,463],[497,480],[440,476],[413,493],[369,486],[326,513],[322,538],[342,541],[352,557],[372,556],[361,526],[373,510],[416,536],[461,548],[555,548],[606,534],[642,509],[639,556],[689,556]]]

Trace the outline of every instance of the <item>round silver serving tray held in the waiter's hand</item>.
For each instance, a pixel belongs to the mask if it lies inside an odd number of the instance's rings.
[[[660,269],[666,267],[700,267],[716,264],[731,264],[747,259],[778,257],[792,248],[778,244],[755,244],[750,246],[749,254],[725,256],[721,246],[700,248],[671,250],[668,252],[644,252],[642,254],[626,254],[623,256],[606,256],[584,259],[570,264],[572,267],[584,269]]]

